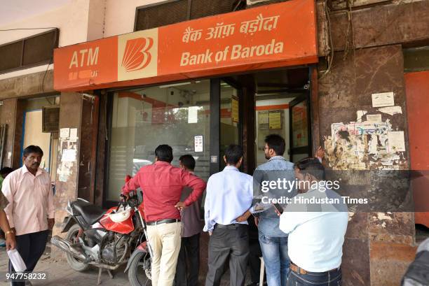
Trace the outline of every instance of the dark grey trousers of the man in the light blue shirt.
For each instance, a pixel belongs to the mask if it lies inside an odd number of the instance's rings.
[[[219,286],[224,264],[229,258],[230,285],[245,284],[249,259],[249,234],[247,224],[231,224],[231,228],[215,227],[209,241],[208,271],[205,286]]]

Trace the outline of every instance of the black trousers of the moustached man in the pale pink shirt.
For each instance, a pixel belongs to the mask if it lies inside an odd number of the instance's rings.
[[[43,251],[45,251],[48,230],[33,232],[32,234],[22,234],[22,236],[15,236],[15,238],[16,250],[18,250],[22,260],[25,262],[25,266],[27,266],[26,272],[32,272],[43,255]],[[11,261],[9,261],[9,270],[14,271]],[[24,282],[12,282],[12,286],[24,285]]]

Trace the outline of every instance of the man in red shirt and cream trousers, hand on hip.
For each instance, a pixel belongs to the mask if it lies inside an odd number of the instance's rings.
[[[139,187],[143,191],[147,236],[154,252],[153,286],[173,284],[182,234],[179,210],[198,200],[205,190],[203,180],[172,166],[172,159],[172,148],[159,145],[155,150],[155,163],[143,166],[122,188],[125,196]],[[179,201],[184,187],[191,187],[193,191],[184,201]]]

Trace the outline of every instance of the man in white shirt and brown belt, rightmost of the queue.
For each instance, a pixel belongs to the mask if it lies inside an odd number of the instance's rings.
[[[295,164],[298,194],[280,216],[280,229],[289,234],[291,260],[287,285],[341,285],[341,257],[348,210],[325,181],[325,168],[316,158]],[[306,199],[314,199],[308,203]]]

